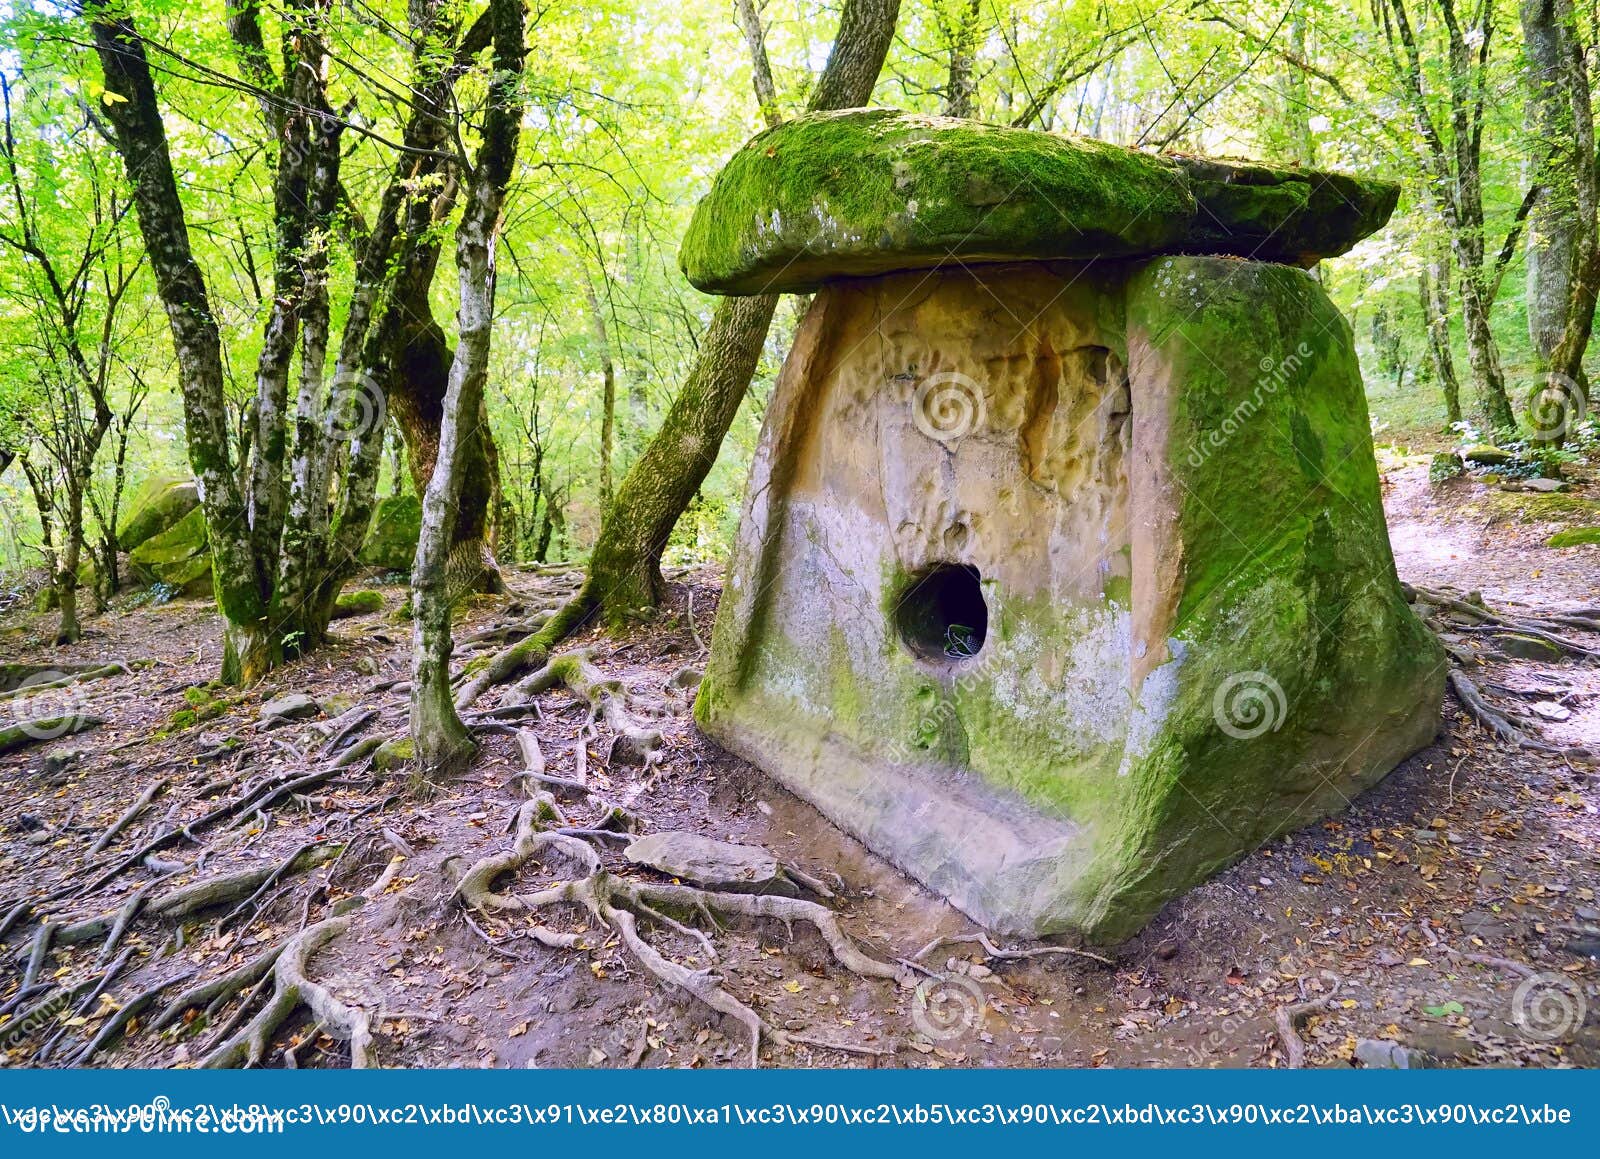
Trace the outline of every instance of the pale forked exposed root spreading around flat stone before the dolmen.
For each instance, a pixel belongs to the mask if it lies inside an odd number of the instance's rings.
[[[909,981],[901,969],[864,954],[838,927],[834,912],[814,901],[762,893],[723,893],[690,885],[659,885],[616,877],[602,868],[600,856],[594,848],[576,837],[547,828],[552,823],[566,824],[555,797],[549,792],[534,794],[517,810],[517,836],[512,848],[478,860],[461,877],[456,885],[456,896],[461,903],[467,909],[482,912],[502,909],[536,912],[562,903],[581,906],[595,922],[616,933],[629,954],[656,978],[739,1021],[750,1033],[752,1066],[758,1061],[762,1041],[782,1045],[787,1042],[784,1033],[768,1026],[754,1009],[734,997],[709,969],[694,970],[661,952],[640,933],[640,919],[694,940],[712,960],[715,960],[717,952],[710,938],[662,911],[699,914],[712,927],[715,927],[715,914],[766,917],[786,925],[806,922],[822,936],[834,957],[846,970],[867,978]],[[554,882],[528,895],[494,890],[494,882],[499,877],[514,874],[534,858],[550,856],[573,863],[584,876]],[[579,935],[560,933],[544,925],[534,925],[531,936],[546,946],[584,946]]]

